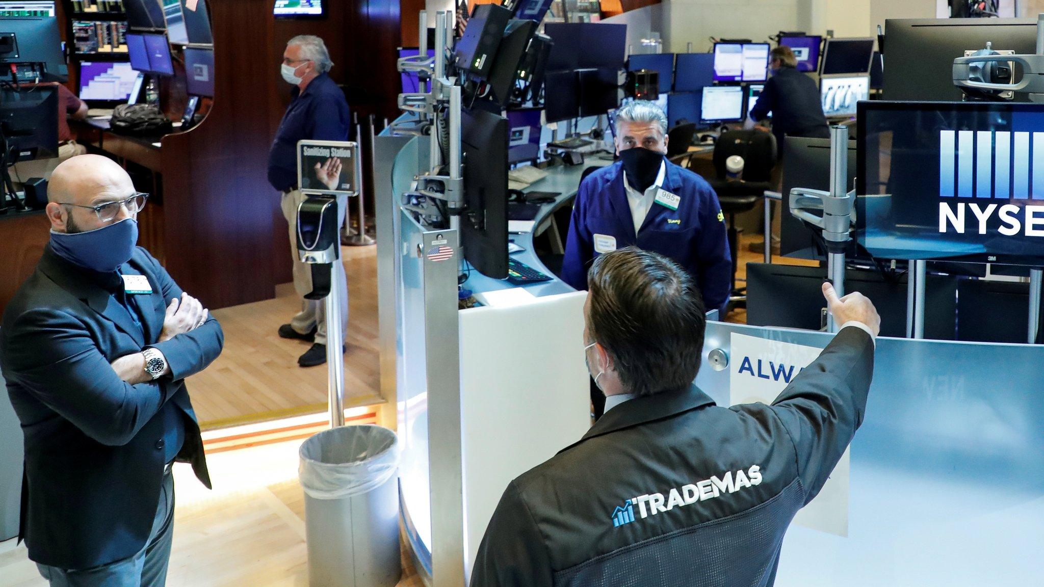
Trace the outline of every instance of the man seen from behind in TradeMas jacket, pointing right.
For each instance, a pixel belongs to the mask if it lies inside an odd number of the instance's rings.
[[[472,587],[768,587],[794,514],[862,422],[880,316],[824,296],[840,332],[772,405],[719,407],[692,384],[704,305],[678,264],[638,249],[595,259],[584,330],[606,416],[513,480]]]

